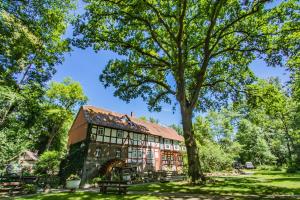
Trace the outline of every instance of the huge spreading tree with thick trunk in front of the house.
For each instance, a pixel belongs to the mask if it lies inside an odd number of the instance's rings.
[[[195,110],[235,97],[254,76],[249,64],[294,58],[297,1],[86,0],[75,44],[124,57],[110,60],[100,76],[125,101],[142,97],[150,110],[180,106],[189,176],[205,180],[192,128]],[[295,35],[295,34],[294,34]],[[173,96],[173,97],[172,97]],[[174,98],[175,97],[175,98]]]

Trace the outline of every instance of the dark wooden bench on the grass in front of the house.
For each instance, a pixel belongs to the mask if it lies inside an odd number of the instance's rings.
[[[126,181],[99,181],[98,182],[100,192],[106,194],[108,189],[113,189],[109,191],[117,191],[118,194],[127,193],[127,182]]]

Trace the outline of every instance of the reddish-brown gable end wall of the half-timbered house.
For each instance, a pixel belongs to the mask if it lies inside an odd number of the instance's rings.
[[[83,109],[80,108],[71,129],[69,130],[68,146],[84,140],[87,136],[88,123],[84,118]]]

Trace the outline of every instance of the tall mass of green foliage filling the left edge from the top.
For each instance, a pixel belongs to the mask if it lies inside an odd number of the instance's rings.
[[[0,2],[1,165],[41,144],[45,85],[70,51],[62,37],[73,0]]]

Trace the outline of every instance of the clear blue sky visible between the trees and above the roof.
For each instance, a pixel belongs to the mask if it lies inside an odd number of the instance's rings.
[[[82,12],[82,5],[79,5]],[[66,36],[72,35],[71,27]],[[180,113],[177,109],[173,113],[171,106],[164,106],[161,112],[149,112],[147,104],[141,99],[132,100],[126,103],[113,96],[113,88],[105,89],[99,81],[99,75],[110,59],[118,56],[109,51],[95,53],[92,49],[73,48],[73,51],[65,54],[65,62],[57,66],[57,73],[53,77],[54,81],[62,81],[65,77],[71,77],[83,86],[85,94],[88,96],[89,105],[106,108],[115,112],[130,114],[134,112],[137,117],[154,117],[160,123],[170,125],[180,123]],[[251,64],[254,73],[260,78],[279,77],[282,82],[288,80],[288,73],[283,68],[267,67],[264,62],[256,60]]]

